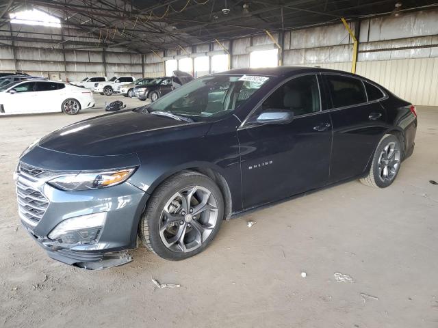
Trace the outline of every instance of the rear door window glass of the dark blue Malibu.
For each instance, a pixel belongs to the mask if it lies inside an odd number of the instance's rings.
[[[342,75],[326,75],[333,108],[362,104],[367,102],[365,87],[359,79]]]

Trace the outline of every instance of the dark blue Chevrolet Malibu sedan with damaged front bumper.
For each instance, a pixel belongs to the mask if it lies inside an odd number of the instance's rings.
[[[67,264],[129,262],[138,234],[158,256],[183,260],[237,213],[352,179],[388,187],[413,152],[416,115],[381,85],[336,70],[210,74],[31,143],[16,171],[19,215]]]

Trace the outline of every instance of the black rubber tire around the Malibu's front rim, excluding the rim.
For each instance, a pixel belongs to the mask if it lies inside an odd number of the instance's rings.
[[[172,184],[169,186],[168,184],[162,184],[162,187],[158,187],[157,190],[153,193],[151,198],[153,198],[152,202],[149,202],[146,206],[146,210],[144,211],[144,215],[142,216],[142,223],[144,220],[148,220],[149,226],[149,242],[151,243],[151,247],[155,254],[158,256],[165,258],[166,260],[184,260],[185,258],[190,258],[196,254],[201,253],[211,241],[214,239],[218,231],[220,230],[220,226],[222,220],[224,218],[224,200],[222,197],[222,193],[220,189],[216,185],[216,183],[204,176],[203,174],[179,174],[177,176],[172,177]],[[201,186],[209,189],[211,193],[216,197],[216,201],[218,202],[218,221],[216,222],[216,226],[211,234],[208,236],[207,240],[203,242],[203,244],[190,251],[188,253],[179,253],[175,251],[171,251],[168,249],[164,243],[162,242],[161,237],[159,236],[159,220],[161,219],[161,213],[166,205],[166,202],[170,200],[170,197],[174,195],[177,191],[190,186]],[[140,226],[140,236],[144,241],[143,234],[143,224]]]

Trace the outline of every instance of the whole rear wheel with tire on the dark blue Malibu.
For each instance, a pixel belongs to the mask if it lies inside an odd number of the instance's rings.
[[[400,140],[395,135],[384,135],[374,153],[368,176],[360,181],[370,187],[389,187],[396,180],[401,161]]]

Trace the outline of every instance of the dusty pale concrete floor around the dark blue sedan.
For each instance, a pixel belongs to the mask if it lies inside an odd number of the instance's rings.
[[[105,100],[144,104],[95,98],[76,116],[0,118],[1,327],[438,327],[438,108],[418,109],[415,152],[387,189],[348,182],[224,222],[189,260],[138,249],[123,267],[90,272],[27,236],[12,172],[31,141],[102,113]]]

